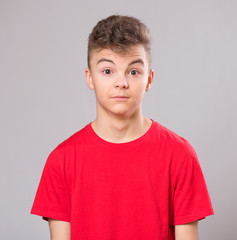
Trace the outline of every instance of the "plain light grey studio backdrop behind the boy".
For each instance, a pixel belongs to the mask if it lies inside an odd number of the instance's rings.
[[[1,0],[0,239],[49,239],[30,210],[49,153],[96,116],[87,39],[111,14],[150,28],[155,79],[143,113],[199,156],[215,211],[200,239],[236,239],[236,12],[235,0]]]

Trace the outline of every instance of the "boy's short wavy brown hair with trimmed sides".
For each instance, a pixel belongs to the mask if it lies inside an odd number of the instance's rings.
[[[126,52],[133,45],[143,45],[149,65],[151,62],[151,40],[149,29],[139,19],[130,16],[112,15],[99,21],[88,38],[87,64],[94,50],[110,48],[115,52]]]

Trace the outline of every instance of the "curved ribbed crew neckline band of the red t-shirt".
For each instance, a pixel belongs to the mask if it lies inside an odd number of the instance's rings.
[[[143,141],[145,141],[149,135],[153,132],[153,128],[155,127],[155,121],[153,119],[150,118],[150,120],[152,121],[150,127],[148,128],[148,130],[140,137],[131,140],[129,142],[123,142],[123,143],[113,143],[113,142],[109,142],[103,138],[101,138],[92,128],[91,124],[92,122],[90,122],[87,125],[87,130],[90,133],[91,137],[99,144],[105,146],[105,147],[113,147],[113,148],[126,148],[126,147],[131,147],[131,146],[135,146]]]

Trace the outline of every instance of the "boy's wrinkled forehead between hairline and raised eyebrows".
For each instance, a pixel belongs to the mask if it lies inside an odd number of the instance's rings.
[[[131,61],[142,59],[144,64],[148,64],[148,56],[145,48],[142,45],[131,46],[124,51],[118,49],[102,48],[92,52],[91,63],[97,64],[101,58],[113,59],[113,61]]]

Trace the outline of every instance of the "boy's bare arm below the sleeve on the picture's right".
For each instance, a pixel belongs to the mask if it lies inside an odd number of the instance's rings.
[[[198,221],[175,225],[175,240],[198,240]]]

